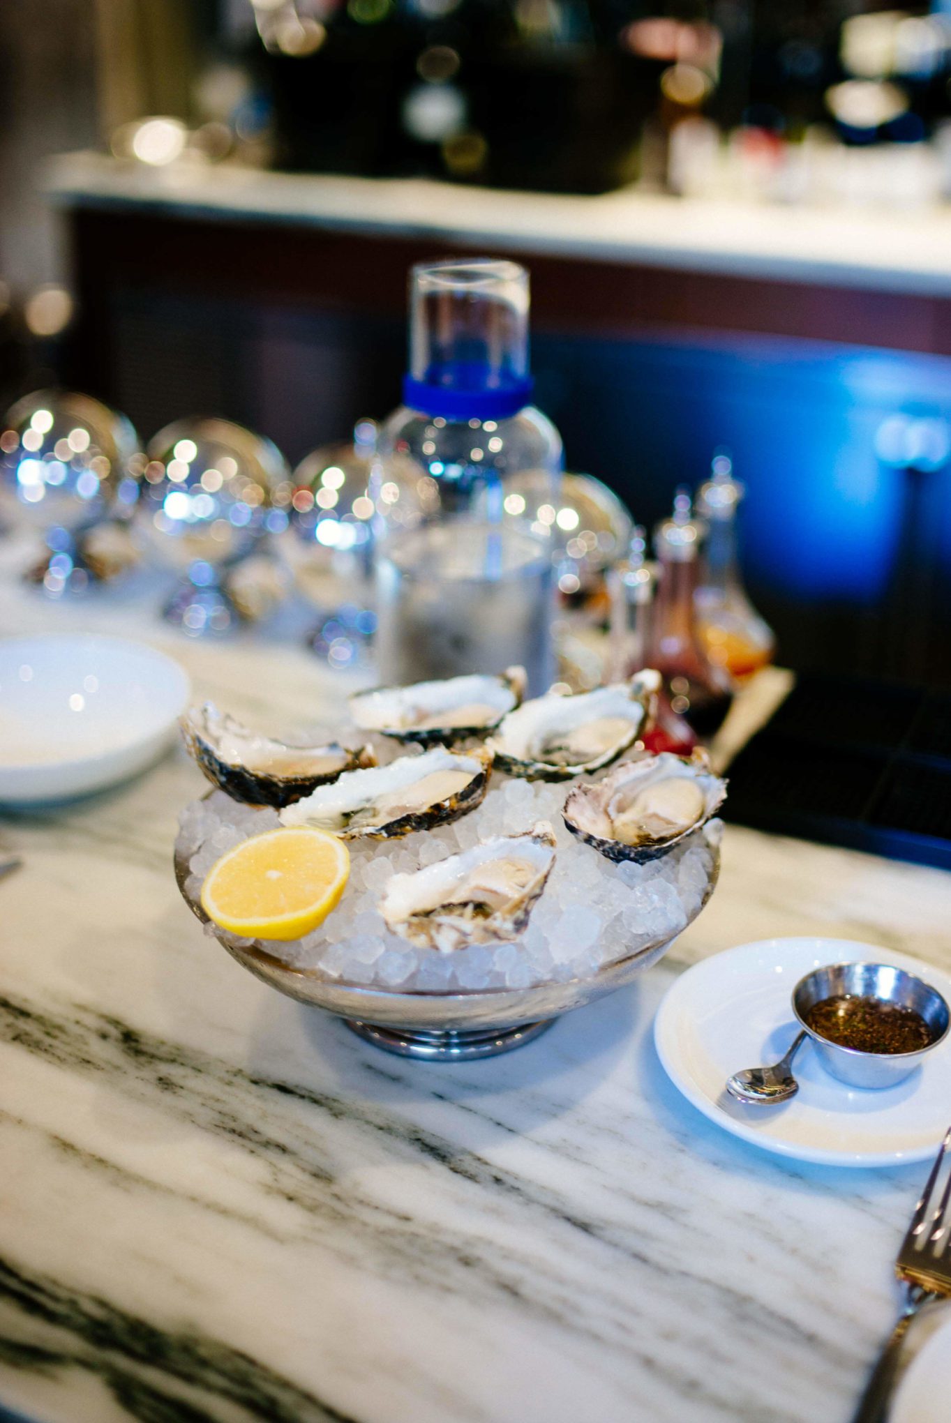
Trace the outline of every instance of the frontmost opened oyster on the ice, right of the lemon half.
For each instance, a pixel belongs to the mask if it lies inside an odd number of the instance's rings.
[[[380,901],[387,926],[410,943],[451,953],[524,932],[555,862],[545,820],[522,835],[495,835],[411,875],[393,875]]]

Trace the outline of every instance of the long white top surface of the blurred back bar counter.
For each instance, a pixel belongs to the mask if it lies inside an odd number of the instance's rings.
[[[61,206],[162,211],[212,221],[302,223],[433,238],[521,255],[557,253],[690,272],[930,296],[951,293],[951,206],[881,211],[672,198],[501,192],[424,179],[148,168],[68,154],[47,169]]]

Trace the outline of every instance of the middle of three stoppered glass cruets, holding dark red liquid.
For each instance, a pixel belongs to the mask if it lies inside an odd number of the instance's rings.
[[[695,593],[705,528],[690,512],[690,495],[681,488],[673,514],[653,531],[658,593],[653,605],[648,665],[663,677],[671,707],[698,736],[713,736],[733,699],[723,667],[706,655],[695,615]]]

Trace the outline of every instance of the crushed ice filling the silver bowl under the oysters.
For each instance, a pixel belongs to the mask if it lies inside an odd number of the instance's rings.
[[[700,909],[715,871],[720,821],[695,831],[661,859],[615,865],[565,828],[561,808],[567,794],[565,784],[494,778],[481,807],[451,825],[392,842],[349,841],[350,881],[340,905],[306,938],[263,946],[295,968],[347,983],[454,993],[588,978],[615,959],[678,935]],[[389,932],[377,902],[390,875],[470,850],[490,835],[525,831],[538,820],[554,825],[558,852],[521,939],[440,953],[413,948]],[[177,847],[189,862],[186,896],[198,899],[205,875],[226,850],[279,824],[275,811],[241,805],[222,791],[188,805]],[[224,929],[208,926],[208,932],[236,945],[249,942]]]

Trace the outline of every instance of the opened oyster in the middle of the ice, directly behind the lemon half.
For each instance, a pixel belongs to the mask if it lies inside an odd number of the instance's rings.
[[[389,766],[347,771],[280,811],[285,825],[320,825],[342,840],[367,835],[396,840],[458,820],[476,810],[488,788],[491,756],[437,746],[421,756],[399,756]]]

